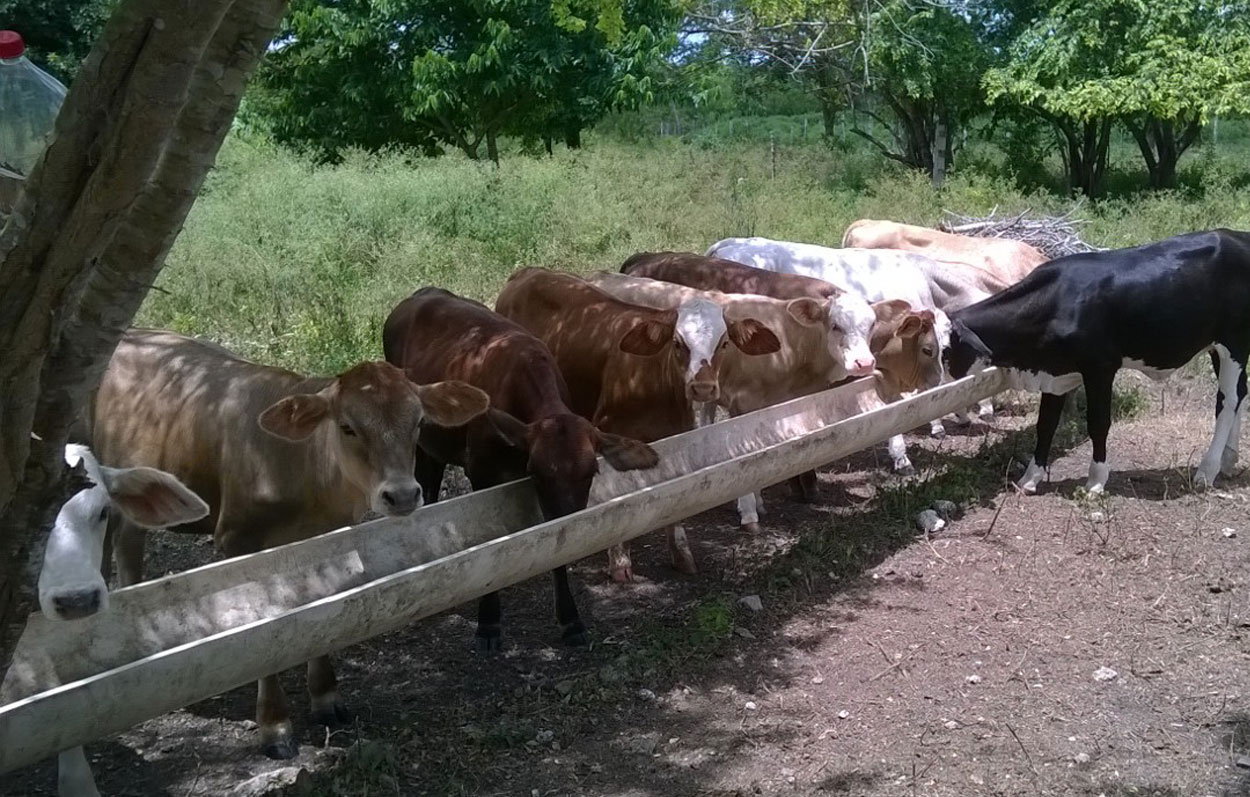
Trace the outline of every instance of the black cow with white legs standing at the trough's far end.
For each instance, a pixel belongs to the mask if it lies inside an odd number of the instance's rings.
[[[1052,260],[985,301],[951,314],[946,367],[955,377],[989,365],[1012,386],[1040,390],[1038,447],[1020,488],[1034,492],[1069,391],[1084,382],[1094,442],[1088,487],[1106,485],[1111,380],[1121,367],[1164,379],[1202,351],[1219,380],[1215,435],[1198,486],[1230,473],[1250,354],[1250,232],[1211,230],[1158,244]]]

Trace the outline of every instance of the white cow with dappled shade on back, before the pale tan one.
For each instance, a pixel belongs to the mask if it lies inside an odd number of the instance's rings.
[[[950,341],[950,319],[942,310],[929,275],[940,271],[932,259],[916,252],[880,249],[831,249],[816,244],[774,241],[764,237],[724,239],[708,249],[708,255],[734,260],[758,269],[782,274],[801,274],[854,291],[868,301],[901,299],[916,310],[934,314],[939,345]],[[982,416],[988,416],[982,407]],[[959,416],[966,423],[966,416]],[[941,418],[929,423],[934,437],[946,433]]]

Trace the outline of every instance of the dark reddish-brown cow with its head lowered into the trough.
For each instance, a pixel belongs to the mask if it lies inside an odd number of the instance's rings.
[[[456,428],[421,431],[418,481],[428,500],[439,495],[446,465],[465,468],[475,490],[532,477],[546,520],[586,508],[601,455],[619,471],[655,467],[644,442],[595,428],[569,408],[569,389],[555,357],[515,321],[471,299],[422,287],[401,301],[382,326],[386,361],[415,382],[459,380],[490,396],[490,410]],[[566,645],[585,645],[586,630],[569,590],[568,570],[552,571],[556,620]],[[501,642],[498,592],[478,605],[479,651]]]

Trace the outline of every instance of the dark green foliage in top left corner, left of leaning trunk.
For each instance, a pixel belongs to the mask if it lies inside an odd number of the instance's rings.
[[[26,55],[69,84],[118,0],[0,0],[0,26],[16,30]]]

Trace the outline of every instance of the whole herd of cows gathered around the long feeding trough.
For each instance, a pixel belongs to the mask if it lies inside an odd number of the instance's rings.
[[[149,528],[211,533],[238,556],[366,513],[406,516],[438,498],[448,465],[475,490],[529,476],[555,518],[585,508],[600,460],[650,468],[649,443],[712,422],[718,407],[740,415],[870,375],[876,390],[848,415],[988,366],[1042,391],[1026,492],[1045,475],[1066,392],[1084,384],[1089,487],[1101,490],[1115,372],[1164,374],[1211,351],[1216,428],[1195,473],[1209,485],[1238,460],[1250,235],[1196,232],[1048,262],[1020,241],[861,220],[840,249],[728,239],[705,255],[639,254],[620,272],[522,269],[494,309],[421,287],[391,311],[381,344],[385,361],[329,379],[128,331],[81,425],[90,447],[66,451],[89,487],[58,516],[44,613],[104,610],[100,570],[114,557],[121,585],[140,581]],[[939,418],[932,432],[942,430]],[[901,436],[889,450],[908,472]],[[802,495],[812,487],[811,475],[795,480]],[[759,496],[738,508],[758,528]],[[674,567],[696,572],[685,531],[666,532]],[[609,551],[608,573],[632,578],[626,546]],[[568,572],[552,576],[562,640],[585,643]],[[478,650],[500,648],[501,618],[499,593],[482,597]],[[308,688],[315,721],[348,718],[328,657],[309,662]],[[259,683],[256,721],[269,756],[296,755],[276,676]],[[62,795],[96,793],[81,751],[60,763]]]

